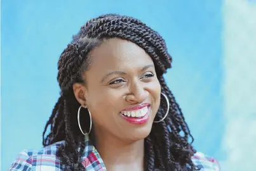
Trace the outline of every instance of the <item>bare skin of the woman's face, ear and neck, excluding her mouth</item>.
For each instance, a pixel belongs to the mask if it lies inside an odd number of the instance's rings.
[[[104,41],[89,55],[91,65],[83,73],[86,84],[76,83],[73,89],[77,101],[91,112],[95,146],[107,170],[144,170],[144,139],[161,95],[154,63],[137,44],[118,38]],[[145,124],[121,117],[122,110],[140,103],[151,105]]]

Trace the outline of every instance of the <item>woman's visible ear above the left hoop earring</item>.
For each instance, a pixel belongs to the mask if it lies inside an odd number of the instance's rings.
[[[73,84],[73,91],[77,101],[82,105],[86,106],[86,87],[81,83]]]

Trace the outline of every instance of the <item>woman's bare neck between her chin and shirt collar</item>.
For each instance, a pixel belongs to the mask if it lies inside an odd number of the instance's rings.
[[[109,134],[97,135],[96,132],[95,137],[95,147],[107,170],[143,170],[144,139],[124,142]]]

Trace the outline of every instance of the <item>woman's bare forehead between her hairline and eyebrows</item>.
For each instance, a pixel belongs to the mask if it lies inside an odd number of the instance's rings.
[[[125,68],[153,64],[149,54],[137,44],[123,39],[109,39],[90,53],[91,67]]]

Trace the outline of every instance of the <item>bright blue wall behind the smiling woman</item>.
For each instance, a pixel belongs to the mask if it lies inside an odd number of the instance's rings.
[[[156,3],[157,2],[157,3]],[[165,75],[198,151],[223,160],[222,16],[217,1],[2,1],[1,170],[42,146],[59,96],[57,60],[86,20],[131,15],[157,30],[173,56]]]

